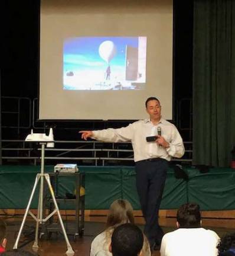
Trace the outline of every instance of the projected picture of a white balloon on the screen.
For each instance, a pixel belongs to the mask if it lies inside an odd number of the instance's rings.
[[[140,90],[146,37],[74,37],[64,41],[64,90]]]

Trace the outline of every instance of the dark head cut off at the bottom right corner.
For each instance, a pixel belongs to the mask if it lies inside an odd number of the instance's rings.
[[[235,256],[235,233],[224,235],[217,248],[220,256]]]

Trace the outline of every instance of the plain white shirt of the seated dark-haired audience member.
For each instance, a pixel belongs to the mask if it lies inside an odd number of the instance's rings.
[[[204,228],[179,228],[162,238],[161,256],[217,256],[219,237]]]

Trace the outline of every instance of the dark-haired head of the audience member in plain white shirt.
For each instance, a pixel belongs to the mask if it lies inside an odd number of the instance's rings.
[[[178,228],[200,228],[201,213],[198,204],[187,203],[179,207],[177,226]]]

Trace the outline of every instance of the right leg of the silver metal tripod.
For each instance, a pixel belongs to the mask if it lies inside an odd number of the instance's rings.
[[[66,233],[66,229],[64,228],[64,223],[63,223],[63,220],[62,220],[61,215],[60,215],[60,210],[58,209],[58,204],[57,204],[57,201],[56,201],[56,197],[54,195],[53,188],[51,186],[51,181],[50,181],[49,174],[44,174],[44,175],[45,175],[45,180],[47,180],[48,187],[49,187],[49,190],[50,190],[50,193],[51,193],[51,197],[53,199],[53,203],[54,203],[54,206],[55,206],[55,211],[54,212],[55,213],[57,212],[57,214],[58,214],[58,219],[60,220],[60,225],[61,225],[61,228],[62,228],[62,231],[63,231],[63,234],[64,234],[64,239],[66,240],[66,244],[67,244],[66,254],[67,255],[74,255],[73,248],[71,247],[71,244],[68,241],[68,236],[67,236],[67,233]]]

